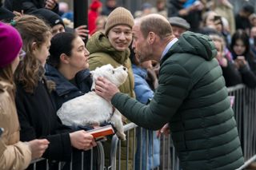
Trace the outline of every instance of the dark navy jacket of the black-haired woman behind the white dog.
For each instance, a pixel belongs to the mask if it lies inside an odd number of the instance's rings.
[[[90,87],[92,85],[89,69],[84,69],[76,74],[74,79],[77,86],[68,81],[62,73],[59,73],[58,70],[51,65],[46,65],[46,77],[56,84],[56,88],[51,93],[51,96],[57,110],[64,102],[90,92]]]

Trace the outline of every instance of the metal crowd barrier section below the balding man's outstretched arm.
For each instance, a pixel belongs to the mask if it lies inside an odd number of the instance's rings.
[[[130,123],[130,124],[127,124],[124,126],[124,130],[126,132],[126,144],[127,144],[127,148],[129,148],[129,137],[130,137],[130,133],[129,131],[130,130],[134,130],[134,136],[136,136],[136,131],[140,130],[142,131],[142,128],[138,128],[137,125],[135,125],[134,123]],[[145,155],[142,155],[142,144],[146,144],[146,148],[148,148],[148,144],[149,144],[149,133],[151,131],[148,131],[146,130],[146,140],[145,141],[141,141],[141,157],[142,156],[146,156],[146,160],[148,160],[148,150],[146,150],[146,154]],[[152,136],[152,135],[151,135]],[[133,137],[134,138],[134,144],[133,145],[136,145],[136,137]],[[153,141],[153,139],[151,139]],[[170,135],[169,136],[160,136],[159,138],[160,140],[160,166],[156,167],[156,168],[152,168],[154,170],[170,170],[170,169],[175,169],[175,170],[179,170],[180,169],[180,166],[179,166],[179,161],[178,161],[178,157],[176,156],[176,152],[175,152],[175,149],[174,149],[174,146],[171,144],[171,138],[170,138]],[[154,150],[154,141],[152,143],[152,150]],[[128,168],[128,155],[129,155],[129,152],[128,152],[128,149],[126,150],[127,154],[126,154],[126,170],[127,169],[130,169]],[[136,148],[133,148],[132,149],[132,152],[133,152],[133,155],[134,155],[134,162],[135,162],[135,152],[136,152]],[[153,151],[151,151],[151,153],[153,153]],[[121,158],[121,142],[120,140],[118,139],[118,136],[114,135],[112,137],[112,140],[111,140],[111,152],[110,152],[110,166],[106,167],[106,169],[108,170],[123,170],[123,168],[121,167],[121,164],[119,164],[121,161],[120,161],[120,158]],[[152,155],[151,155],[152,156]],[[117,161],[118,160],[118,161]],[[142,160],[142,159],[140,159]],[[117,163],[118,162],[118,163]],[[149,169],[147,167],[147,163],[146,162],[146,167],[142,167],[142,161],[140,162],[140,167],[139,169],[140,170],[144,170],[144,169]],[[154,161],[152,160],[152,166],[154,167]],[[133,168],[134,169],[134,168]],[[150,168],[151,169],[151,168]]]

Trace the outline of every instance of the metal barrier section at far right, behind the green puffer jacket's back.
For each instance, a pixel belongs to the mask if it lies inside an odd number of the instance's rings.
[[[256,160],[256,89],[245,85],[228,88],[230,96],[234,96],[234,117],[238,125],[245,164],[238,170],[246,168]]]

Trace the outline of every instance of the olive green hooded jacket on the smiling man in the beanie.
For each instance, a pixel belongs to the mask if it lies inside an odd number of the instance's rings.
[[[134,74],[132,71],[131,67],[131,62],[130,62],[130,50],[127,49],[126,51],[117,51],[114,49],[112,45],[110,45],[110,42],[108,38],[106,38],[105,34],[102,34],[101,32],[95,33],[87,42],[86,44],[86,49],[89,50],[90,52],[90,57],[89,57],[89,68],[90,70],[94,70],[97,67],[100,67],[102,65],[106,64],[111,64],[114,67],[118,67],[120,65],[125,66],[128,69],[128,77],[124,84],[122,84],[119,87],[120,92],[126,93],[130,97],[135,97],[134,93]],[[122,121],[124,125],[130,123],[129,120],[126,119],[126,117],[122,117]],[[127,155],[127,144],[126,141],[122,141],[121,143],[121,169],[126,169],[126,160],[128,160],[128,169],[132,170],[134,169],[134,155],[133,155],[133,150],[135,149],[134,146],[134,130],[130,131],[130,137],[129,139],[126,136],[126,140],[129,142],[129,156],[128,159],[126,158]],[[110,164],[110,148],[111,148],[111,143],[110,140],[106,141],[104,143],[104,151],[105,151],[105,164],[108,166]],[[117,164],[118,160],[117,160]]]

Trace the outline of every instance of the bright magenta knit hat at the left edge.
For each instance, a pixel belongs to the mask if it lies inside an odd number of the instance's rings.
[[[22,38],[13,27],[0,22],[0,68],[9,65],[22,49]]]

